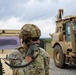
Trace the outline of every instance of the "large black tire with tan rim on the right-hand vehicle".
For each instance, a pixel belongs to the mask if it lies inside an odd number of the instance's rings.
[[[54,47],[53,59],[57,67],[59,68],[67,67],[67,64],[65,64],[65,55],[63,54],[63,51],[59,45],[56,45]]]

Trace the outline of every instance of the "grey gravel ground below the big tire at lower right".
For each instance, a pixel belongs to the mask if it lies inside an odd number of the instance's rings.
[[[51,59],[50,62],[50,75],[76,75],[76,65],[69,65],[66,69],[57,68]]]

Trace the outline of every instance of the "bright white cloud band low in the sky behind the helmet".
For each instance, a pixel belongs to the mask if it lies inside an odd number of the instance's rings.
[[[30,22],[20,22],[19,18],[11,17],[5,21],[0,21],[0,29],[12,29],[12,30],[20,30],[24,24],[35,24],[41,30],[41,37],[50,37],[49,33],[53,33],[55,31],[55,24],[52,21],[52,18],[45,20],[34,20]]]

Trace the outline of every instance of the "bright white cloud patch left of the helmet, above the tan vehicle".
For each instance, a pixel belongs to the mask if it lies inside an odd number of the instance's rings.
[[[22,27],[22,22],[17,17],[10,17],[7,20],[0,21],[0,29],[17,29]]]

